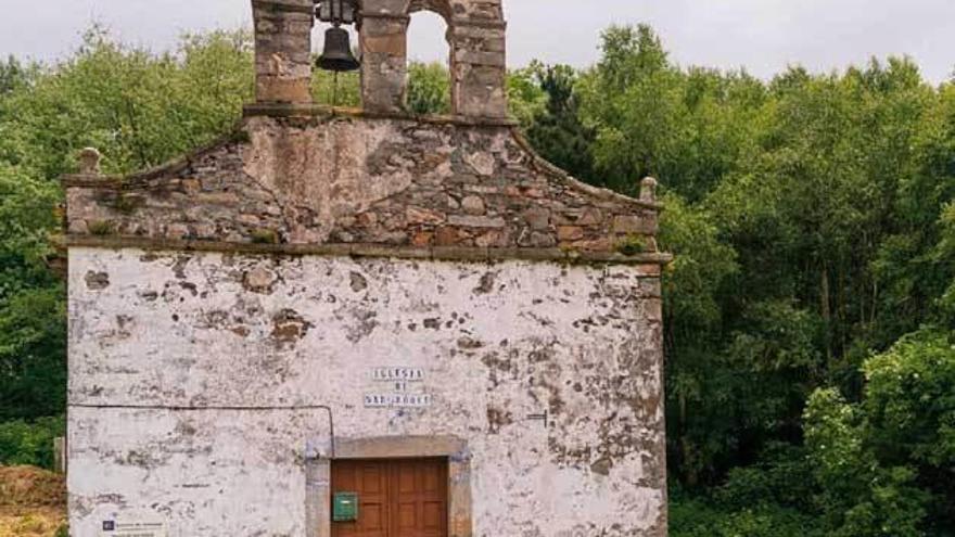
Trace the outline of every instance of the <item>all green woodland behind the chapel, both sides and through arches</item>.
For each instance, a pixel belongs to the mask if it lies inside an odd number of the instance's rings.
[[[648,27],[602,47],[508,92],[576,177],[663,184],[672,534],[955,535],[955,85],[907,59],[683,68]],[[409,73],[409,111],[449,110],[446,69]],[[65,392],[56,177],[86,145],[124,172],[207,143],[251,82],[243,33],[154,54],[93,30],[60,64],[0,63],[0,461],[48,463],[62,427],[41,419]],[[358,78],[315,94],[357,105]]]

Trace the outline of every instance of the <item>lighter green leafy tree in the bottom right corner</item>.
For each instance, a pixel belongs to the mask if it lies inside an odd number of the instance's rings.
[[[817,501],[831,535],[955,529],[955,340],[928,328],[866,360],[865,396],[820,389],[806,409]]]

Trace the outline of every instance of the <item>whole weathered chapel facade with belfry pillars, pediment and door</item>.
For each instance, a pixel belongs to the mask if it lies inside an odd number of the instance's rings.
[[[507,118],[500,0],[364,0],[364,108],[311,104],[313,0],[253,0],[256,103],[63,182],[72,535],[666,534],[661,206]],[[453,114],[403,111],[409,13]]]

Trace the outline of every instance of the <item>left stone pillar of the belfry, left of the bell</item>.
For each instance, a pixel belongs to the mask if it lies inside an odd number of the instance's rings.
[[[311,103],[313,0],[252,0],[255,100]]]

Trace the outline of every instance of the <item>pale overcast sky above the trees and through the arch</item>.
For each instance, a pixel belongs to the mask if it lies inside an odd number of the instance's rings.
[[[509,63],[585,66],[612,23],[650,23],[683,65],[746,67],[769,77],[909,54],[932,81],[955,71],[955,0],[505,0]],[[0,0],[0,54],[50,60],[97,21],[124,40],[168,48],[186,30],[249,25],[249,0]],[[444,59],[434,16],[412,20],[410,54]]]

